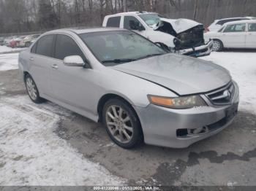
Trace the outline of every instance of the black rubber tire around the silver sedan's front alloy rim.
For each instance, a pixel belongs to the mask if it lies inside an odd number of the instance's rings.
[[[110,132],[108,125],[107,125],[107,111],[111,106],[120,106],[122,109],[124,109],[125,113],[129,115],[130,121],[132,122],[132,138],[127,143],[122,143],[121,141],[118,141]],[[143,142],[143,131],[141,129],[140,120],[138,119],[137,114],[135,113],[134,109],[132,109],[129,104],[127,104],[125,101],[122,101],[119,98],[113,98],[108,100],[102,111],[102,122],[105,125],[105,128],[107,130],[108,135],[110,136],[110,139],[112,139],[113,142],[115,142],[119,147],[122,147],[124,149],[131,149],[133,147],[138,146]]]

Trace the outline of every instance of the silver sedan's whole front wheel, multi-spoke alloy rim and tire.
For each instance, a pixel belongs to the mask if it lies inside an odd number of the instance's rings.
[[[140,121],[129,104],[118,98],[105,103],[102,122],[112,139],[119,147],[130,149],[143,141]]]

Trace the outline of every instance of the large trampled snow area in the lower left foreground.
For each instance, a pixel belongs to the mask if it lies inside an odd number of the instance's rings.
[[[61,116],[55,104],[33,104],[28,96],[0,95],[0,185],[123,185],[53,131]]]

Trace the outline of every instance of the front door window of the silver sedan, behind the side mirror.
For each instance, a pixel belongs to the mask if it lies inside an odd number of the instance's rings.
[[[64,34],[58,34],[56,39],[55,56],[59,60],[64,60],[69,55],[80,55],[85,61],[83,52],[78,47],[78,44],[69,36]]]

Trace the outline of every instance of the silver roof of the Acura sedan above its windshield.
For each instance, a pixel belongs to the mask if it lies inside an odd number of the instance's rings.
[[[61,32],[73,32],[75,34],[84,34],[84,33],[94,33],[94,32],[102,32],[102,31],[127,31],[127,29],[124,28],[106,28],[106,27],[101,27],[101,28],[62,28],[62,29],[57,29],[54,31],[48,31],[47,33],[61,33]]]

